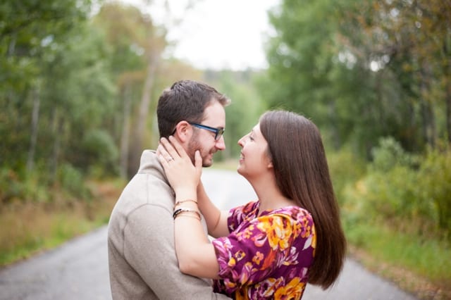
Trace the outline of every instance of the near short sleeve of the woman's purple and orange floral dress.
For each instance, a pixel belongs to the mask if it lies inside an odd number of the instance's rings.
[[[306,232],[313,220],[305,218],[303,222],[283,213],[263,215],[228,237],[214,239],[218,275],[228,292],[264,280],[282,264],[296,264],[297,249],[313,246],[311,232]]]

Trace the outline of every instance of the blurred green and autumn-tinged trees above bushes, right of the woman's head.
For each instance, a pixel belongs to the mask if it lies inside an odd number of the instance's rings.
[[[409,151],[450,142],[450,15],[439,0],[285,0],[271,12],[266,99],[367,157],[378,137]]]

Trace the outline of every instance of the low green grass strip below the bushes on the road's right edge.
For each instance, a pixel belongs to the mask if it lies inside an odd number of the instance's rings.
[[[421,299],[451,296],[449,242],[420,239],[384,225],[353,224],[345,227],[348,242],[366,254],[362,263],[393,280]],[[434,295],[434,296],[431,296]]]

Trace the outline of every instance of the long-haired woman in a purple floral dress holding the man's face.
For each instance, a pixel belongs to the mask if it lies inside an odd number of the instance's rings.
[[[300,299],[307,282],[330,287],[346,242],[319,130],[296,113],[268,111],[238,144],[237,172],[258,200],[227,213],[199,184],[198,151],[194,166],[175,139],[161,139],[159,160],[176,195],[180,270],[214,279],[215,292],[234,299]]]

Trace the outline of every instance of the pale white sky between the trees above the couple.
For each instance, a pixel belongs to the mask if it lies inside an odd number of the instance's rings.
[[[122,0],[140,6],[145,0]],[[157,23],[171,24],[171,52],[197,68],[266,68],[264,41],[271,35],[266,11],[280,0],[154,0],[144,9]],[[164,5],[166,5],[166,11]],[[192,7],[185,9],[188,3]],[[141,7],[141,6],[140,6]],[[174,20],[180,20],[173,25]]]

